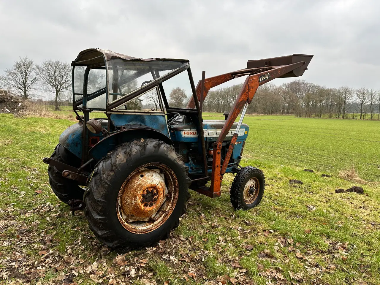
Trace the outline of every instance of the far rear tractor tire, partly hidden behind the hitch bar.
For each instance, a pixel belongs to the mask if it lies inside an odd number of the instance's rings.
[[[55,147],[50,158],[74,167],[80,167],[81,164],[78,157],[60,144]],[[54,194],[63,203],[69,204],[71,199],[83,199],[84,189],[79,187],[78,182],[75,180],[63,177],[62,171],[59,171],[55,166],[49,165],[47,174],[49,175],[49,183]]]

